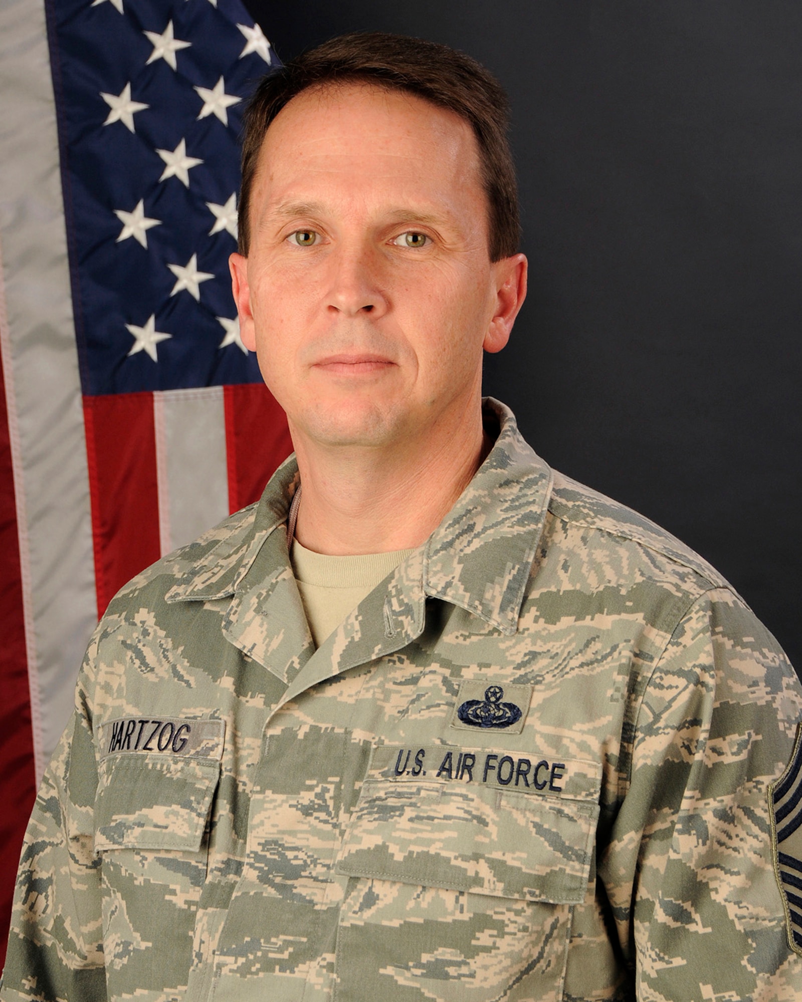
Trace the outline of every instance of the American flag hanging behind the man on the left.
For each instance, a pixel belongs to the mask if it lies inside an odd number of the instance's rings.
[[[291,450],[228,269],[244,99],[272,65],[239,0],[0,4],[3,947],[97,616]]]

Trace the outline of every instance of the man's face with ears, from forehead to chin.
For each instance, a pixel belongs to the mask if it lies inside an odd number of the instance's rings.
[[[232,256],[242,338],[298,435],[387,446],[459,421],[498,351],[506,283],[491,264],[476,140],[411,94],[307,90],[271,124]],[[509,312],[507,310],[507,312]]]

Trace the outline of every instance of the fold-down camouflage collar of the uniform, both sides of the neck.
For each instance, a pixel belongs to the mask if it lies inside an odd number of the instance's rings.
[[[484,417],[498,427],[490,453],[421,550],[391,579],[384,617],[396,620],[403,633],[417,635],[423,628],[422,599],[427,595],[461,606],[502,633],[514,633],[517,627],[552,474],[524,441],[507,407],[487,398]],[[264,563],[257,557],[266,540],[286,526],[298,483],[298,466],[291,456],[249,515],[241,516],[226,537],[193,560],[166,600],[221,599],[260,584],[249,571],[255,562]],[[286,546],[270,549],[276,559],[286,555]],[[385,626],[388,633],[395,632],[392,621]]]

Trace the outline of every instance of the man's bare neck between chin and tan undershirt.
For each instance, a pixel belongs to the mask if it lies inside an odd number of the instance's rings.
[[[332,556],[420,546],[492,445],[478,408],[457,428],[429,427],[393,447],[320,446],[291,431],[303,485],[296,538]]]

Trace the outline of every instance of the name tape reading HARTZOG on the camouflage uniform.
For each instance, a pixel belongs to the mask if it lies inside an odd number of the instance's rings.
[[[191,759],[222,759],[225,720],[175,716],[121,716],[98,728],[100,758],[154,753]]]

